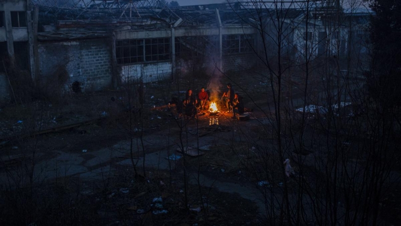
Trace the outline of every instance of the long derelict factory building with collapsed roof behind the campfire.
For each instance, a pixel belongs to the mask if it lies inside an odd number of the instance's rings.
[[[64,72],[68,76],[61,79],[60,88],[66,92],[74,82],[82,91],[96,91],[118,87],[127,78],[152,82],[194,69],[205,73],[250,69],[258,65],[255,52],[274,56],[278,48],[273,38],[278,37],[274,29],[278,21],[268,9],[261,22],[256,20],[260,12],[239,4],[168,8],[155,0],[50,2],[0,3],[3,102],[10,98],[7,72],[12,66],[28,73],[34,84],[57,80]],[[287,59],[302,61],[305,52],[341,57],[351,47],[366,52],[362,42],[368,15],[350,14],[340,26],[333,26],[327,23],[327,9],[311,10],[308,17],[302,9],[288,12],[283,19],[286,44],[281,47]],[[316,48],[304,48],[306,42],[316,43]],[[263,43],[267,48],[261,48]]]

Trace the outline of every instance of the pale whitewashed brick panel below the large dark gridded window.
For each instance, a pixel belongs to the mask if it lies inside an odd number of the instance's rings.
[[[143,82],[153,82],[159,79],[169,79],[171,76],[171,62],[154,62],[133,65],[122,65],[121,78],[126,81],[128,76],[134,79],[143,79]]]

